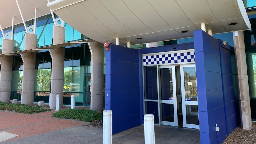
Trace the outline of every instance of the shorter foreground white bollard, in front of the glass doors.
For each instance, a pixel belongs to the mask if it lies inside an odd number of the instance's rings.
[[[145,144],[155,143],[154,115],[152,114],[144,115],[144,138]]]

